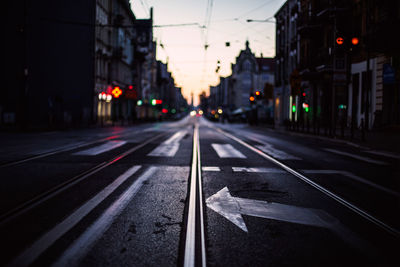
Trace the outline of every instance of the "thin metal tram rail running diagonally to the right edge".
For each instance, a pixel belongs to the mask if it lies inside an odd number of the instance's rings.
[[[359,207],[355,206],[354,204],[348,202],[347,200],[345,200],[344,198],[336,195],[335,193],[329,191],[328,189],[324,188],[323,186],[313,182],[311,179],[307,178],[306,176],[304,176],[303,174],[295,171],[294,169],[290,168],[289,166],[283,164],[282,162],[274,159],[273,157],[267,155],[266,153],[262,152],[261,150],[247,144],[246,142],[240,140],[239,138],[221,130],[220,128],[214,128],[217,131],[219,131],[220,133],[222,133],[223,135],[235,140],[236,142],[238,142],[239,144],[247,147],[248,149],[252,150],[253,152],[257,153],[258,155],[260,155],[261,157],[273,162],[274,164],[280,166],[281,168],[283,168],[284,170],[286,170],[287,172],[291,173],[292,175],[296,176],[297,178],[301,179],[302,181],[304,181],[305,183],[311,185],[312,187],[314,187],[315,189],[319,190],[320,192],[324,193],[325,195],[329,196],[330,198],[334,199],[335,201],[337,201],[338,203],[342,204],[343,206],[347,207],[348,209],[350,209],[351,211],[357,213],[358,215],[360,215],[361,217],[367,219],[368,221],[374,223],[375,225],[381,227],[382,229],[384,229],[385,231],[387,231],[388,233],[396,236],[396,237],[400,237],[400,231],[397,230],[396,228],[384,223],[383,221],[375,218],[374,216],[372,216],[371,214],[369,214],[368,212],[365,212],[364,210],[360,209]]]

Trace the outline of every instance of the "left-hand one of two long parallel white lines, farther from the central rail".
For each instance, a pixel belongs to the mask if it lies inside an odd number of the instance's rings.
[[[72,227],[81,221],[100,202],[102,202],[123,182],[125,182],[126,179],[137,172],[140,167],[141,166],[133,166],[120,175],[114,182],[104,188],[100,193],[91,198],[88,202],[69,215],[65,220],[57,224],[54,228],[36,240],[29,248],[15,258],[9,266],[28,266],[32,264],[46,249],[53,245],[54,242],[57,241],[62,235],[72,229]]]

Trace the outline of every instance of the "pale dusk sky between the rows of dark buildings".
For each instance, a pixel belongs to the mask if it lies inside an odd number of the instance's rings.
[[[199,94],[219,83],[219,77],[232,73],[240,50],[246,40],[250,49],[260,57],[275,56],[275,24],[247,22],[248,19],[266,20],[283,5],[285,0],[131,0],[137,19],[149,18],[153,7],[153,36],[157,42],[157,59],[167,62],[182,87],[183,96],[190,103],[199,102]],[[273,18],[272,21],[275,21]],[[168,26],[183,24],[181,26]],[[185,25],[189,24],[189,25]],[[159,26],[159,27],[158,27]],[[230,42],[230,46],[225,46]],[[205,49],[205,45],[208,48]],[[215,72],[217,61],[220,70]]]

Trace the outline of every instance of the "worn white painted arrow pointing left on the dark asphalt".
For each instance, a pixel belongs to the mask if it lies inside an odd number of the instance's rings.
[[[227,187],[209,197],[206,204],[245,232],[248,230],[242,214],[331,229],[339,224],[338,220],[322,210],[232,197]]]

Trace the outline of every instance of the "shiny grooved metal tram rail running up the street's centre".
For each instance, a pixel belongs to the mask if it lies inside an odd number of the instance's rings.
[[[205,249],[205,233],[204,233],[204,216],[203,216],[203,200],[202,200],[202,180],[201,180],[201,161],[200,161],[200,140],[199,125],[196,123],[193,131],[193,155],[192,168],[190,174],[190,190],[189,190],[189,207],[186,225],[185,254],[183,258],[184,267],[194,267],[196,265],[196,243],[200,247],[201,266],[206,266],[206,249]],[[199,214],[196,214],[197,200]],[[196,216],[199,216],[196,219]],[[196,226],[196,221],[200,222]],[[200,227],[200,229],[199,229]],[[200,243],[196,242],[196,229],[200,230]],[[198,232],[197,232],[198,233]],[[198,240],[198,239],[197,239]],[[199,256],[197,256],[198,258]],[[199,258],[198,258],[199,259]]]

